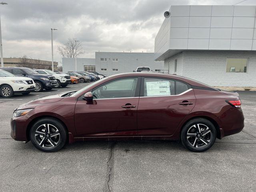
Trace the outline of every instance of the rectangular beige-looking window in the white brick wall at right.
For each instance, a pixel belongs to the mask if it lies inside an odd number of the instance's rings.
[[[227,73],[246,73],[248,58],[227,58]]]

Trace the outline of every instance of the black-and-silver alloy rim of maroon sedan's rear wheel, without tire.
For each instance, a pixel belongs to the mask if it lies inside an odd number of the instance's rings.
[[[202,148],[212,139],[212,132],[204,124],[194,124],[187,131],[188,143],[195,148]]]

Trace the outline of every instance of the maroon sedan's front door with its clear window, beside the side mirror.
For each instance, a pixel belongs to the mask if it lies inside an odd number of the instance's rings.
[[[93,102],[78,99],[76,132],[80,136],[137,135],[140,77],[120,78],[92,90]]]

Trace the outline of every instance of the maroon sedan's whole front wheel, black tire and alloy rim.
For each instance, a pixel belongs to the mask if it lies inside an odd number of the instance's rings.
[[[50,133],[48,132],[48,125]],[[39,131],[40,134],[36,134],[36,131]],[[36,121],[30,129],[30,140],[32,144],[44,152],[56,152],[60,150],[66,144],[67,138],[68,133],[66,128],[62,122],[54,118],[42,118]]]

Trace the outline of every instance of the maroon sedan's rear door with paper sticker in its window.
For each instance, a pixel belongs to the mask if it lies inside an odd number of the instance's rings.
[[[138,135],[171,136],[196,103],[194,91],[184,82],[142,78],[138,106]]]

